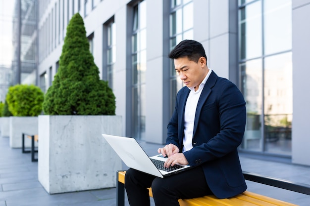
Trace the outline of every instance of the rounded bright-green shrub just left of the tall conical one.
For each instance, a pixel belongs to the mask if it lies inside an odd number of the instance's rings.
[[[35,85],[16,84],[8,88],[6,101],[13,116],[38,116],[42,112],[44,93]]]

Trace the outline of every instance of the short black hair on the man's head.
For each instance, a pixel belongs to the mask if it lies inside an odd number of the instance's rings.
[[[179,57],[187,56],[189,60],[198,62],[200,57],[205,57],[207,61],[207,55],[204,46],[194,40],[183,40],[172,49],[169,53],[170,59],[177,59]]]

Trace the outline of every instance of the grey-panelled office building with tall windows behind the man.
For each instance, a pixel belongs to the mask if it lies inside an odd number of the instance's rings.
[[[310,0],[39,1],[37,84],[44,91],[52,84],[66,26],[79,12],[100,76],[116,96],[123,135],[163,143],[183,86],[167,56],[194,39],[204,45],[208,67],[244,94],[240,151],[310,165],[309,11]]]

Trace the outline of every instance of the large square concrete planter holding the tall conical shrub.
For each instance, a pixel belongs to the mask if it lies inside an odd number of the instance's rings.
[[[50,194],[116,186],[122,163],[102,133],[121,135],[120,116],[39,116],[38,179]]]

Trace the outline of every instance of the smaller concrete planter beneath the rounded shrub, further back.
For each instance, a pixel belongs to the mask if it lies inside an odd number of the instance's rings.
[[[38,117],[9,117],[11,148],[22,147],[22,133],[38,134]],[[25,147],[31,147],[31,140],[25,138]]]

